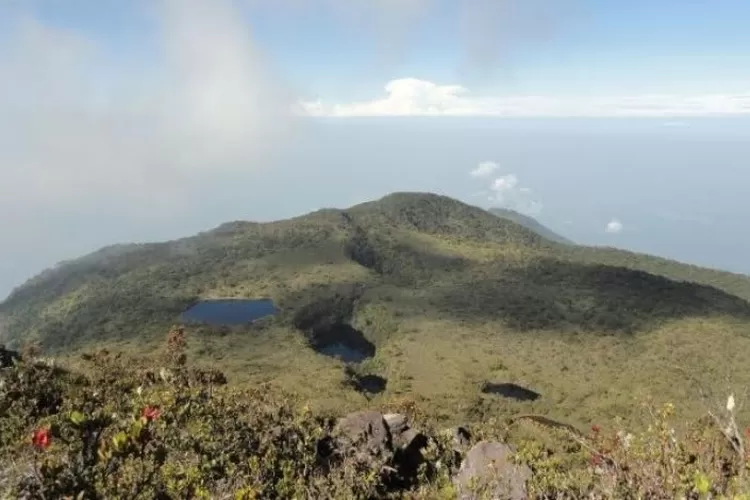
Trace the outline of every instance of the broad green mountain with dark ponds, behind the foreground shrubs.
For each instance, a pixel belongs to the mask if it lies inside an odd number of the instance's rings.
[[[560,245],[429,193],[63,263],[0,304],[0,343],[148,356],[191,306],[243,298],[278,312],[190,323],[190,355],[236,383],[278,384],[337,410],[411,397],[445,420],[531,410],[637,420],[648,397],[700,414],[699,389],[721,399],[727,380],[750,384],[748,277]],[[523,389],[537,397],[514,396]]]

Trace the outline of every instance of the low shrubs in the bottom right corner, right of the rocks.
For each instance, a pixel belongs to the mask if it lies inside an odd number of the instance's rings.
[[[538,472],[535,491],[542,498],[563,492],[572,495],[564,498],[748,498],[742,495],[750,492],[750,457],[742,452],[732,411],[729,405],[731,425],[714,425],[711,414],[678,434],[674,406],[665,404],[650,411],[651,424],[641,433],[594,425],[586,436],[569,435],[586,465],[560,470],[558,457],[527,453]]]

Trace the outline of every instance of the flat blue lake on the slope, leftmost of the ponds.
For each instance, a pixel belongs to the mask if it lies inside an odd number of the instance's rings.
[[[245,325],[276,314],[270,299],[203,300],[182,313],[182,320],[217,326]]]

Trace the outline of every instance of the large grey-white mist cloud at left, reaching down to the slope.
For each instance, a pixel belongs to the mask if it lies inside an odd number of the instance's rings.
[[[207,186],[222,176],[247,182],[294,131],[296,98],[232,0],[148,5],[160,46],[151,47],[155,64],[137,70],[98,40],[20,8],[3,19],[1,252],[24,273],[23,263],[110,243],[95,237],[107,233],[96,224],[146,226],[197,210]],[[5,271],[0,295],[7,276],[18,279]]]

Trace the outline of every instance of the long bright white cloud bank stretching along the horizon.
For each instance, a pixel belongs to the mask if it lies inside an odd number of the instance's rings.
[[[461,85],[417,78],[392,80],[385,96],[328,104],[303,102],[315,116],[506,116],[506,117],[690,117],[750,114],[750,90],[742,94],[613,97],[478,96]]]

